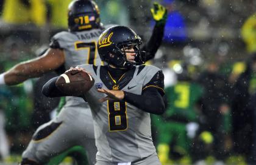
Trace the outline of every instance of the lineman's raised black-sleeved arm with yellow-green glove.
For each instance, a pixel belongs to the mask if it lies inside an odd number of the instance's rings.
[[[145,61],[153,59],[155,53],[157,53],[163,40],[167,19],[167,9],[156,2],[154,3],[154,8],[151,8],[151,13],[155,21],[155,27],[148,43],[142,48],[142,50],[146,51]]]

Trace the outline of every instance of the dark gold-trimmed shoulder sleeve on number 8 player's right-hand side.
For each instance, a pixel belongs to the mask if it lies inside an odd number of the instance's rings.
[[[149,88],[156,88],[162,96],[165,95],[164,79],[165,76],[163,75],[162,70],[159,70],[157,73],[155,73],[151,80],[143,86],[142,91],[144,92]]]

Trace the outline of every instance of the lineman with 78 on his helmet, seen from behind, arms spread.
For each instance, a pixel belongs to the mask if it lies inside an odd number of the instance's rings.
[[[52,72],[60,67],[68,69],[79,64],[100,66],[96,43],[105,27],[99,19],[99,8],[89,0],[76,0],[68,7],[69,32],[57,33],[50,48],[39,58],[22,62],[0,75],[0,84],[14,85]],[[166,9],[155,5],[152,15],[156,21],[148,44],[146,60],[154,57],[163,37]],[[21,164],[43,164],[69,147],[81,145],[88,151],[90,164],[95,161],[93,120],[88,104],[82,98],[67,97],[66,104],[54,120],[40,126],[23,152]],[[76,121],[76,122],[74,122]]]

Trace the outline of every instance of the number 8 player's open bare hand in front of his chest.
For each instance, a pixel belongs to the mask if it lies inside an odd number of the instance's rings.
[[[99,102],[104,102],[108,99],[118,99],[121,100],[124,98],[124,91],[123,90],[108,90],[108,89],[98,89],[98,92],[105,93],[107,96],[104,98],[99,99]]]

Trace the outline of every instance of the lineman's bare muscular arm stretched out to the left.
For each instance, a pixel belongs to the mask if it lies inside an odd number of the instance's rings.
[[[8,86],[19,84],[29,78],[35,78],[43,73],[52,72],[58,69],[65,62],[65,56],[61,49],[48,49],[44,55],[24,61],[12,69],[0,75],[0,85]]]

